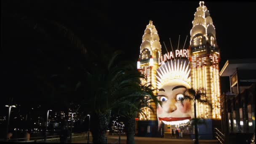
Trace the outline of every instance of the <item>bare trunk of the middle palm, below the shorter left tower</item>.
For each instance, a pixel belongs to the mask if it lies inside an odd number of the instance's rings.
[[[135,117],[133,115],[129,116],[125,123],[126,130],[126,144],[135,144],[134,134],[135,134]]]

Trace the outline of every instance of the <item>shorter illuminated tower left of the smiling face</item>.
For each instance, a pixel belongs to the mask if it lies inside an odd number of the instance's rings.
[[[157,87],[156,69],[158,68],[159,56],[161,56],[159,36],[157,35],[155,25],[153,25],[152,21],[149,21],[142,37],[140,55],[137,63],[139,72],[147,77],[147,81],[142,80],[142,84],[151,83],[154,88]],[[147,117],[139,115],[139,120],[157,120],[155,103],[151,102],[149,104],[154,109],[154,112],[149,108],[144,108],[143,111]]]

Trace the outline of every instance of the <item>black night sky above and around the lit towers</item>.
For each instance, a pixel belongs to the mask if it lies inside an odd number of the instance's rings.
[[[182,47],[188,36],[187,48],[199,6],[199,1],[2,0],[1,3],[1,98],[19,97],[17,101],[21,99],[25,104],[40,103],[47,95],[42,92],[46,90],[40,89],[38,73],[42,77],[63,74],[65,69],[72,69],[72,63],[81,62],[67,40],[56,38],[57,34],[51,32],[45,36],[35,31],[36,24],[43,27],[45,21],[58,21],[80,37],[88,50],[121,49],[125,52],[123,59],[136,62],[149,20],[158,31],[162,54],[166,53],[163,42],[171,51],[169,38],[176,48],[179,35]],[[255,58],[256,3],[205,2],[205,6],[216,28],[220,70],[227,59]],[[56,81],[61,85],[74,79]],[[227,88],[228,83],[221,83],[222,92]],[[6,103],[7,98],[0,102],[2,106]]]

